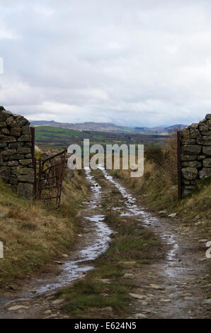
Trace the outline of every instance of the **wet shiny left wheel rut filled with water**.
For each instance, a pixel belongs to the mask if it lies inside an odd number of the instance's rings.
[[[93,213],[93,210],[101,208],[101,186],[91,176],[91,169],[86,168],[86,179],[91,183],[91,190],[93,195],[89,201],[89,208],[85,208],[85,215]],[[87,212],[86,212],[87,210]],[[61,288],[67,286],[72,281],[76,280],[91,269],[93,266],[87,264],[87,261],[92,261],[98,256],[103,254],[108,249],[110,242],[110,235],[113,233],[112,230],[105,224],[105,215],[91,215],[84,217],[84,226],[89,232],[86,232],[83,236],[82,242],[76,245],[74,254],[70,256],[68,261],[64,263],[62,272],[55,279],[56,281],[40,280],[37,283],[40,285],[39,288],[35,288],[36,294],[44,293],[49,290]]]

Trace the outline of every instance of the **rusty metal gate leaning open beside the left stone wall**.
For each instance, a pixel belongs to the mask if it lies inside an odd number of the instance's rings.
[[[38,168],[35,167],[35,198],[45,201],[49,206],[55,200],[52,208],[58,208],[61,202],[66,155],[67,149],[65,148],[62,152],[47,159],[39,159]]]

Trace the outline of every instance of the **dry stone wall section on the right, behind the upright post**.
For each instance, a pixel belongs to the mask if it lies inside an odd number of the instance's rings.
[[[200,179],[211,176],[211,114],[180,131],[181,188],[185,197]]]

